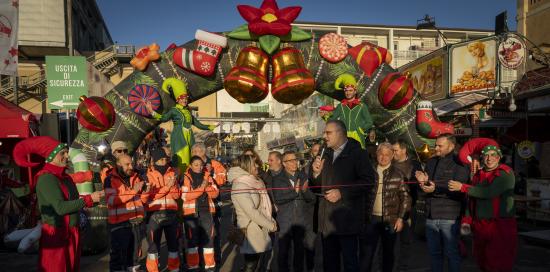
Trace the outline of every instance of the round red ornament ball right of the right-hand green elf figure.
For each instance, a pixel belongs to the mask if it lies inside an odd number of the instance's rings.
[[[378,101],[388,110],[397,110],[411,101],[414,87],[410,74],[388,74],[378,87]]]

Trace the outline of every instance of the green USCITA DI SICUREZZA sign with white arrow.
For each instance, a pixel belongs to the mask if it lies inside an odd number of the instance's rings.
[[[84,57],[46,56],[50,109],[76,109],[88,95],[88,67]]]

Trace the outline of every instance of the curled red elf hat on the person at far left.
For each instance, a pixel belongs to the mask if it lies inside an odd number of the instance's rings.
[[[40,163],[30,162],[28,155],[40,155],[46,162],[51,162],[55,158],[55,155],[65,148],[67,148],[67,144],[60,143],[49,136],[31,137],[15,145],[13,159],[21,167],[34,167]]]

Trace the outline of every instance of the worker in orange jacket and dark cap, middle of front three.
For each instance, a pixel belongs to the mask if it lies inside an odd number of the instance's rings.
[[[168,246],[168,271],[179,271],[177,199],[180,189],[176,173],[168,165],[168,156],[162,148],[151,149],[153,165],[147,170],[149,194],[147,211],[147,271],[159,271],[159,250],[162,232]]]

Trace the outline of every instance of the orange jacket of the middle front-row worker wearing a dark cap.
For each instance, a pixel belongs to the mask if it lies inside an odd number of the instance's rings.
[[[172,167],[166,170],[164,176],[153,167],[147,170],[148,186],[150,187],[147,196],[145,209],[149,212],[178,210],[176,199],[180,198],[180,190],[177,181],[172,187],[166,186],[166,181],[170,178],[175,178],[176,173]]]

